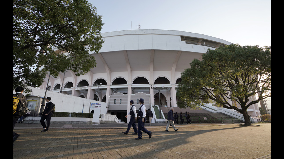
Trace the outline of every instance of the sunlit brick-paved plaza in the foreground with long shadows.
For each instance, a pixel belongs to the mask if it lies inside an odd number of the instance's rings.
[[[164,126],[148,126],[152,138],[142,132],[135,140],[125,128],[41,128],[17,129],[13,159],[109,159],[109,158],[271,158],[271,123],[192,124],[178,131]],[[51,126],[52,127],[52,126]]]

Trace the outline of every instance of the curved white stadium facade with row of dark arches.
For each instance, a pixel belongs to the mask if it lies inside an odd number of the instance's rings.
[[[193,59],[201,60],[207,49],[231,44],[207,35],[171,30],[125,30],[101,33],[104,43],[97,66],[88,74],[68,71],[50,78],[48,87],[72,96],[106,102],[109,112],[126,112],[129,101],[144,98],[150,105],[176,106],[177,83]],[[64,77],[64,81],[63,81]],[[48,76],[41,89],[47,86]],[[96,83],[102,85],[98,87]],[[157,89],[164,86],[163,90]],[[160,99],[160,100],[159,100]],[[114,102],[116,101],[116,103]],[[136,104],[138,105],[138,104]]]

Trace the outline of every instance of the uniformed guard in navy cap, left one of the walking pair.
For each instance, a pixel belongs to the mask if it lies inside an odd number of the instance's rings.
[[[132,134],[132,135],[135,135],[135,134],[138,134],[138,132],[137,132],[137,127],[136,127],[136,124],[135,124],[135,120],[137,119],[137,113],[136,113],[136,107],[135,107],[135,105],[134,105],[134,102],[133,102],[133,100],[130,100],[130,111],[129,111],[129,113],[125,116],[125,117],[127,117],[128,115],[130,115],[130,121],[129,121],[129,123],[128,123],[128,127],[127,127],[127,130],[126,131],[124,131],[124,132],[122,132],[123,134],[125,134],[125,135],[127,135],[128,134],[128,132],[129,132],[129,130],[130,130],[130,128],[131,128],[131,126],[132,126],[132,128],[133,128],[133,130],[134,130],[134,133]]]

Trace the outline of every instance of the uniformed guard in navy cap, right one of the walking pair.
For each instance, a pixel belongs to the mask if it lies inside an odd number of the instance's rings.
[[[140,98],[139,100],[140,108],[137,114],[138,118],[138,138],[135,138],[135,140],[140,140],[142,139],[142,131],[145,132],[146,134],[149,135],[149,139],[152,137],[152,132],[148,131],[147,129],[144,128],[145,125],[145,116],[146,116],[146,107],[144,105],[144,99]]]

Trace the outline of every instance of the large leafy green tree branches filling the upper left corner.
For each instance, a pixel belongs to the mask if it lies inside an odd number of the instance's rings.
[[[13,90],[39,86],[45,75],[96,66],[102,16],[87,0],[13,0]]]

